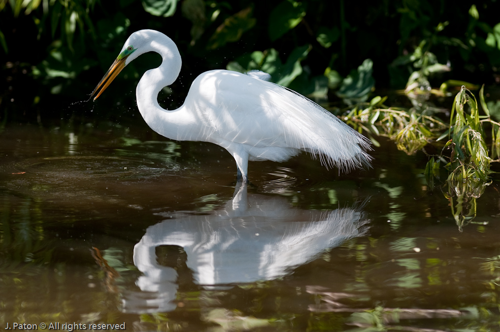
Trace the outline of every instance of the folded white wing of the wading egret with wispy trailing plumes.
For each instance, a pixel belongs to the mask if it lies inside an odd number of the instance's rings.
[[[212,70],[198,76],[191,90],[199,91],[192,102],[204,123],[202,140],[304,150],[344,169],[369,162],[366,138],[290,89],[234,71]]]

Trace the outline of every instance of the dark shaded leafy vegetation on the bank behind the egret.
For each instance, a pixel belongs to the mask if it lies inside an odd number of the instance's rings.
[[[183,56],[166,106],[182,102],[195,75],[224,67],[261,69],[310,97],[346,103],[366,100],[375,82],[408,90],[448,79],[496,84],[496,2],[0,0],[0,119],[84,112],[68,104],[86,98],[126,37],[142,28],[169,35]],[[119,79],[138,80],[159,63],[144,56]],[[134,104],[134,84],[113,85],[108,97]]]

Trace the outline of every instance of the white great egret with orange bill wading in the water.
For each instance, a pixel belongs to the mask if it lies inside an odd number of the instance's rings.
[[[90,98],[95,95],[95,100],[125,65],[150,51],[158,52],[162,62],[137,84],[137,106],[146,123],[170,139],[224,147],[236,161],[238,180],[247,181],[248,160],[285,161],[300,151],[342,170],[369,165],[364,136],[301,94],[266,81],[268,74],[261,71],[206,71],[194,79],[182,106],[163,109],[158,92],[175,81],[181,60],[172,39],[155,30],[128,37]]]

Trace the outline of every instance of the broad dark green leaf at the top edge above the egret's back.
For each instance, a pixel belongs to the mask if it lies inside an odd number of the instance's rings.
[[[281,1],[269,14],[269,38],[276,40],[294,28],[305,16],[305,6],[297,1]]]

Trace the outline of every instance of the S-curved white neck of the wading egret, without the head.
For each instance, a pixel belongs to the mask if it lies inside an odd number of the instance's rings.
[[[135,90],[137,106],[151,129],[167,138],[182,140],[181,129],[194,119],[183,109],[184,106],[166,110],[158,104],[159,91],[173,83],[179,75],[180,53],[172,39],[160,32],[147,40],[137,55],[149,51],[159,53],[162,61],[159,67],[147,70],[140,78]]]

